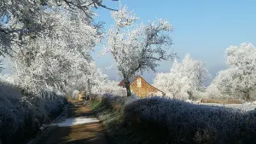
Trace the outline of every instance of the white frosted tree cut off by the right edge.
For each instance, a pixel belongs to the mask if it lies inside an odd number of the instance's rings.
[[[256,90],[256,48],[252,43],[241,43],[226,49],[227,69],[218,72],[214,84],[224,95],[246,101],[254,98]]]

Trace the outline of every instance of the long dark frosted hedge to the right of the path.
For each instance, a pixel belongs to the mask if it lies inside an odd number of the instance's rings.
[[[104,95],[102,103],[113,109],[119,105],[125,129],[136,130],[133,133],[138,133],[144,143],[256,142],[255,111],[240,112],[233,108],[201,106],[159,97],[129,100]]]

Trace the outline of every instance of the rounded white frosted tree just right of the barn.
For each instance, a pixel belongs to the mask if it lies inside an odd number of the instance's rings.
[[[203,88],[204,82],[210,77],[206,66],[201,60],[193,60],[185,55],[183,62],[174,61],[171,72],[157,73],[154,85],[173,98],[192,98],[196,91]]]

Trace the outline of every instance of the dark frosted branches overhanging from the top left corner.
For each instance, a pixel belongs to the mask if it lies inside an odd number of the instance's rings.
[[[0,55],[11,55],[14,47],[26,43],[26,37],[40,36],[54,25],[46,20],[49,10],[63,9],[90,20],[95,13],[91,8],[105,8],[102,0],[1,0],[0,1]],[[99,26],[99,25],[95,25]]]

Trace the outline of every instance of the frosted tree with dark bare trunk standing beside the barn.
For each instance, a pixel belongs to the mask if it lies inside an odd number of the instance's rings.
[[[147,25],[136,25],[139,18],[127,7],[113,11],[111,16],[114,25],[108,33],[108,48],[104,52],[111,52],[116,62],[119,75],[122,76],[131,95],[130,79],[137,72],[155,71],[158,61],[173,57],[168,55],[172,44],[169,32],[172,26],[166,20],[157,20]]]

